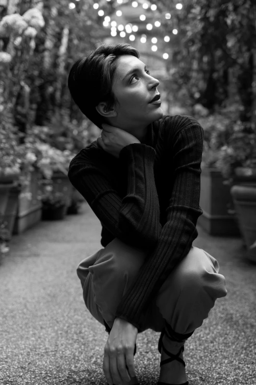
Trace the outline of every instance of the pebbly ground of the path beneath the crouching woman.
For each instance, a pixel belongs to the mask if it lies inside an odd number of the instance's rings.
[[[256,265],[239,237],[212,237],[197,226],[193,245],[220,264],[228,295],[216,300],[185,344],[190,385],[256,385]],[[76,268],[102,248],[101,223],[85,202],[80,214],[40,222],[14,236],[0,265],[0,385],[106,385],[108,334],[86,309]],[[141,385],[156,384],[160,333],[137,337]]]

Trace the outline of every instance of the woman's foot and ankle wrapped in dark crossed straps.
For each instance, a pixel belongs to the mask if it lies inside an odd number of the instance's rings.
[[[166,335],[163,336],[162,342],[165,349],[174,355],[179,352],[181,346],[183,345],[179,342],[170,341]],[[179,357],[183,359],[182,351]],[[170,355],[167,355],[162,349],[161,361],[167,358],[170,358]],[[162,365],[160,367],[160,377],[158,381],[167,384],[184,384],[187,381],[185,366],[176,359],[174,359],[172,362],[168,362],[167,364]]]

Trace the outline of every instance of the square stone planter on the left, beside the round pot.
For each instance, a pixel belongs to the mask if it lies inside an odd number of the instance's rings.
[[[42,203],[38,198],[41,174],[32,171],[28,174],[28,184],[22,187],[18,197],[18,210],[13,234],[21,234],[41,220]]]

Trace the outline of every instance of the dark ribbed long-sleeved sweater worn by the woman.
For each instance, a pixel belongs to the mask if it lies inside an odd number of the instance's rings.
[[[92,142],[72,159],[69,179],[102,224],[101,244],[118,237],[147,251],[116,317],[141,331],[153,296],[198,236],[204,130],[189,116],[163,116],[119,158]]]

